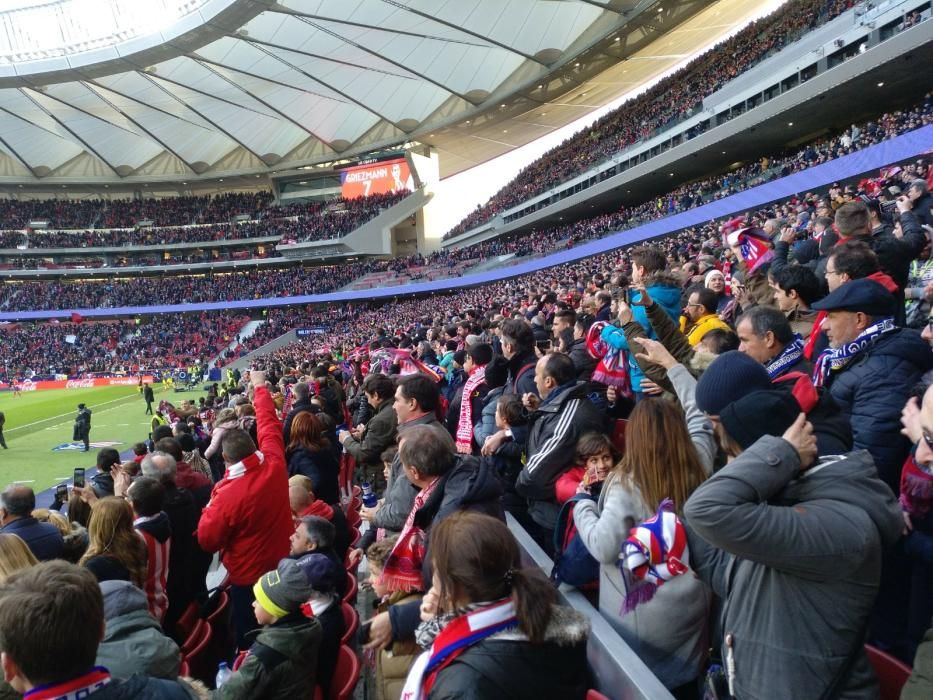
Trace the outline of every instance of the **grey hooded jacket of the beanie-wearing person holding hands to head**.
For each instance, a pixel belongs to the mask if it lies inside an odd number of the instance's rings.
[[[877,698],[861,639],[900,508],[864,450],[799,472],[766,435],[694,491],[691,568],[725,601],[736,697],[818,698],[857,647],[838,697]]]

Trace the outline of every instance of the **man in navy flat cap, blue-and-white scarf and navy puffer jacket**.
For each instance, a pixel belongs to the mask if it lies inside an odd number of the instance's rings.
[[[879,475],[897,493],[910,450],[901,435],[901,409],[933,367],[933,350],[917,331],[894,324],[894,303],[870,279],[847,282],[815,303],[827,312],[830,347],[814,362],[813,378],[849,416],[855,449],[871,452]]]

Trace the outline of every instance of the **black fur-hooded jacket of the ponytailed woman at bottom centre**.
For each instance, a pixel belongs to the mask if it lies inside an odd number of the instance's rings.
[[[429,700],[583,700],[589,628],[555,606],[542,644],[495,636],[474,644],[437,674]]]

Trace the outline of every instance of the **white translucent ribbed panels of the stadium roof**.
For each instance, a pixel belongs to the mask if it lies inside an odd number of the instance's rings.
[[[661,0],[626,4],[636,6],[627,19],[597,0],[152,2],[166,16],[182,8],[169,43],[150,47],[142,30],[119,46],[72,37],[68,50],[84,52],[81,71],[61,70],[47,85],[35,71],[25,82],[15,61],[0,60],[0,149],[51,178],[84,153],[94,164],[89,181],[101,172],[144,178],[163,154],[208,177],[256,162],[227,158],[238,149],[267,168],[313,162],[283,162],[292,152],[319,161],[365,153],[396,146],[379,139],[400,132],[422,138],[498,110],[491,95],[506,103],[525,99],[532,83],[556,84],[549,78],[573,58],[568,51],[582,50],[581,38],[608,37]],[[29,22],[22,32],[41,29]],[[134,54],[134,41],[152,50]],[[123,58],[113,60],[111,49]],[[29,61],[72,55],[39,52]]]

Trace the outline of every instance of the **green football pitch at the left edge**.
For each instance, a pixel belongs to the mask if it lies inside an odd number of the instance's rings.
[[[156,389],[153,410],[163,397]],[[194,399],[200,392],[172,394],[173,403]],[[164,394],[168,397],[168,394]],[[177,398],[176,398],[177,397]],[[72,428],[79,403],[91,409],[91,451],[72,449]],[[0,394],[0,411],[6,415],[3,435],[9,449],[0,448],[0,489],[13,481],[28,483],[36,492],[71,479],[75,467],[93,467],[99,448],[108,443],[123,452],[149,436],[151,417],[135,386]],[[111,444],[112,443],[112,444]],[[57,448],[57,449],[56,449]]]

